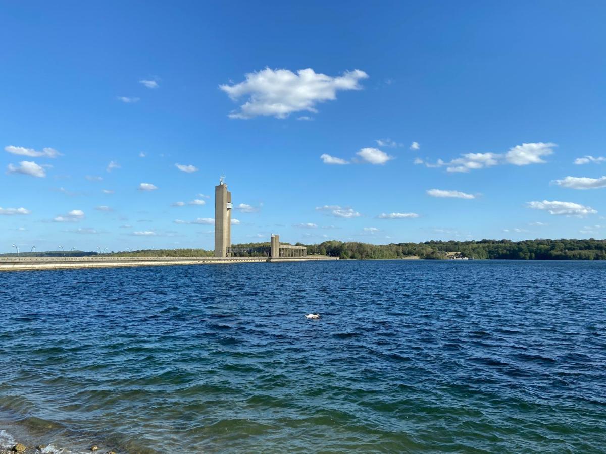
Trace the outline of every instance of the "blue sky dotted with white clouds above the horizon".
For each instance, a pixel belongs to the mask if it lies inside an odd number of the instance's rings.
[[[4,2],[0,251],[210,249],[222,173],[233,242],[604,238],[605,17]]]

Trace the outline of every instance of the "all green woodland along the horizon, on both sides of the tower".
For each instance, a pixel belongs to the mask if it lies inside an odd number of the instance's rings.
[[[297,243],[297,245],[302,245]],[[250,254],[265,255],[254,249],[267,248],[269,243],[244,243],[233,245],[242,249],[251,249]],[[333,255],[341,258],[403,258],[416,256],[427,259],[447,258],[448,252],[458,252],[463,257],[476,259],[509,260],[606,260],[606,240],[480,240],[480,241],[428,241],[424,243],[391,243],[389,245],[371,245],[358,242],[326,241],[318,245],[307,246],[308,255]],[[4,257],[16,256],[0,254]],[[22,253],[21,257],[62,257],[62,251]],[[97,252],[65,251],[67,257],[98,255]],[[105,257],[210,257],[213,251],[205,249],[142,249],[132,252],[109,252]]]

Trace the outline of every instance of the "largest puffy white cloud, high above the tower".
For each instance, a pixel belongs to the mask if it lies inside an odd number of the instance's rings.
[[[293,112],[316,113],[315,105],[335,100],[338,90],[361,90],[359,81],[368,74],[361,70],[345,71],[342,76],[331,77],[307,68],[297,73],[287,69],[265,68],[246,74],[246,80],[235,85],[219,85],[231,100],[246,97],[239,111],[230,118],[249,119],[256,116],[285,118]]]

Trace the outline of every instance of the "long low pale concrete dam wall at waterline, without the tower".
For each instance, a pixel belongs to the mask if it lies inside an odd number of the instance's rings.
[[[10,257],[0,258],[0,271],[34,271],[70,268],[122,268],[127,266],[213,265],[219,263],[313,262],[338,257]]]

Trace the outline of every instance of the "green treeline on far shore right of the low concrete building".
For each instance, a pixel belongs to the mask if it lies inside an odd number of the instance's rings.
[[[327,241],[307,245],[307,254],[337,255],[341,258],[446,258],[447,252],[459,252],[476,259],[508,260],[606,260],[606,240],[480,240],[428,241],[424,243],[368,243]]]

